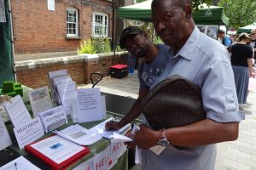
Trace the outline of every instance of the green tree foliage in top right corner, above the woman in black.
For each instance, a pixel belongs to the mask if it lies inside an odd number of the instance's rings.
[[[255,0],[221,0],[218,6],[224,7],[231,27],[247,26],[256,20]]]

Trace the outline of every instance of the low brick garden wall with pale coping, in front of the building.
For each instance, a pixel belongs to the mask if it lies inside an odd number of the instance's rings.
[[[98,57],[86,59],[85,55],[69,57],[35,59],[16,62],[17,82],[30,88],[41,88],[49,85],[47,73],[67,69],[68,74],[77,84],[90,83],[91,72],[101,72],[104,77],[109,76],[109,66],[127,64],[127,54],[117,53],[97,55]]]

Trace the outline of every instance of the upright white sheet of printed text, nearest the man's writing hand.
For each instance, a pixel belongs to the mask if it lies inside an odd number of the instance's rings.
[[[102,120],[100,88],[78,88],[77,96],[79,123]]]

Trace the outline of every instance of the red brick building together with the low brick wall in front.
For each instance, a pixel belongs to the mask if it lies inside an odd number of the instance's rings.
[[[39,88],[48,85],[49,71],[67,69],[75,82],[88,83],[91,72],[100,71],[106,77],[109,66],[126,64],[126,53],[93,58],[73,54],[91,36],[113,39],[124,28],[123,20],[117,22],[114,8],[132,3],[134,0],[11,0],[17,81]],[[119,33],[115,35],[119,40]]]

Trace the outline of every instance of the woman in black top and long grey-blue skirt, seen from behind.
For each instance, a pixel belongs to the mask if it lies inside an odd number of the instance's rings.
[[[229,48],[239,104],[247,103],[249,77],[253,76],[253,48],[250,42],[251,37],[243,32]]]

